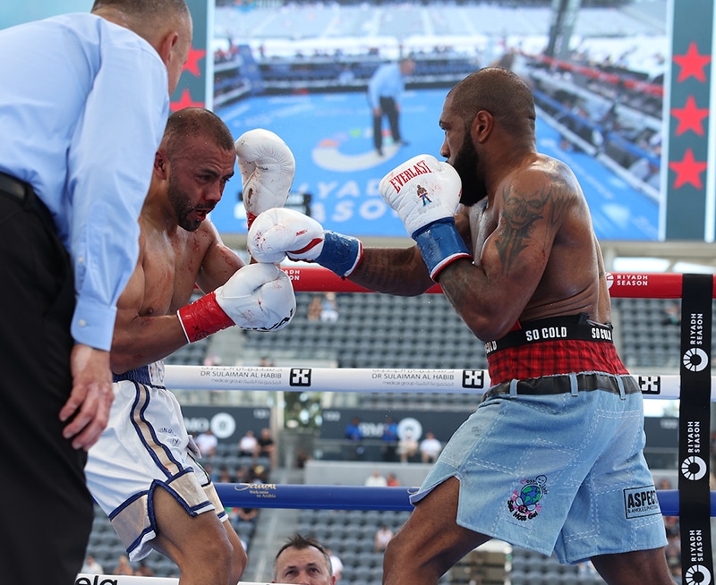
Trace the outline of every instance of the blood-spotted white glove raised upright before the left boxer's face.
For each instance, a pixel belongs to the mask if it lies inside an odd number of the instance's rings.
[[[257,128],[234,142],[243,182],[243,207],[251,227],[262,211],[282,208],[294,182],[291,148],[272,131]]]

